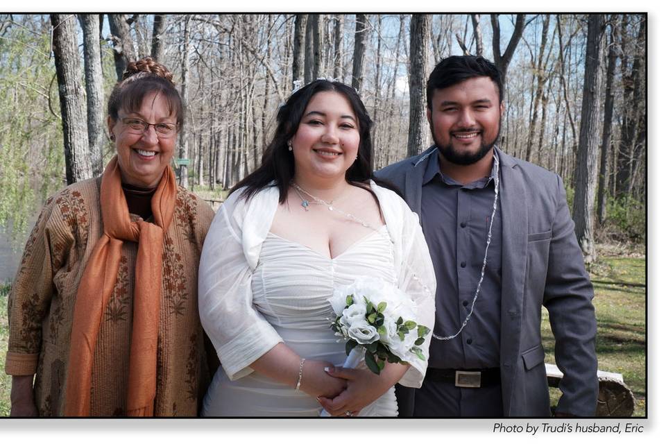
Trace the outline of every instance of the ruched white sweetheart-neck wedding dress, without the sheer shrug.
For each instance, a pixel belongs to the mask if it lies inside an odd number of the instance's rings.
[[[253,304],[297,355],[341,366],[345,343],[330,328],[334,313],[327,299],[334,287],[361,275],[395,284],[392,251],[386,226],[333,259],[268,233],[252,276]],[[397,416],[393,392],[391,387],[359,416]],[[293,387],[257,373],[230,381],[222,368],[203,404],[204,416],[318,416],[320,411],[316,399]]]

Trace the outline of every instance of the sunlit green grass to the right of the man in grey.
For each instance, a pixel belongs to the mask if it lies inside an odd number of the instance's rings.
[[[597,359],[599,370],[622,373],[636,400],[634,416],[645,416],[645,287],[631,287],[620,282],[645,284],[644,257],[601,257],[590,268],[597,313]],[[543,309],[541,325],[546,361],[554,364],[554,339]],[[560,397],[557,388],[550,389],[551,404]]]

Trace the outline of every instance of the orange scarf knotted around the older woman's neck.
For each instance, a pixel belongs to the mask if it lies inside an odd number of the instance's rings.
[[[131,222],[117,156],[102,176],[104,234],[97,241],[76,293],[71,327],[65,416],[90,416],[95,344],[118,277],[123,241],[139,243],[135,270],[127,416],[153,416],[157,384],[157,324],[162,296],[162,244],[176,205],[176,177],[167,167],[155,189],[155,223]]]

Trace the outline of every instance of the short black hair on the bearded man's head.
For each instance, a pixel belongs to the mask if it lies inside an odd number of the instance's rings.
[[[493,62],[480,56],[450,56],[439,62],[428,77],[426,87],[428,109],[432,111],[432,96],[435,89],[447,88],[474,77],[490,77],[497,86],[499,103],[502,103],[504,99],[502,74]]]

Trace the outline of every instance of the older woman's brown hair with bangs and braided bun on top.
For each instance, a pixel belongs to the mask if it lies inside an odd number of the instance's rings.
[[[173,83],[173,74],[150,57],[128,63],[123,80],[116,84],[109,97],[108,114],[118,120],[119,110],[137,112],[146,94],[155,92],[167,100],[169,115],[176,115],[176,123],[180,128],[184,110],[178,89]]]

